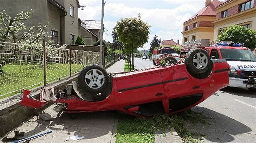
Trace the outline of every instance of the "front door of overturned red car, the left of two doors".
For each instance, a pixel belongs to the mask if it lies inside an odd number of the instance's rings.
[[[159,72],[117,78],[117,91],[119,105],[123,109],[144,116],[164,113],[165,94]]]

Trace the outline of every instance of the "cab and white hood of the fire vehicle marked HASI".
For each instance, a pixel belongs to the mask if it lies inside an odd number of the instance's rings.
[[[224,59],[230,65],[229,85],[256,88],[256,58],[249,48],[241,46],[209,46],[204,48],[211,59]]]

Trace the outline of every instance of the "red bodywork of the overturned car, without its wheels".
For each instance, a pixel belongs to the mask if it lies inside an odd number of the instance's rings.
[[[113,75],[111,94],[103,101],[88,102],[72,95],[57,99],[56,103],[66,103],[65,112],[92,112],[118,110],[127,114],[141,116],[136,111],[145,103],[163,103],[164,113],[176,113],[191,108],[228,85],[229,65],[224,60],[213,62],[213,71],[208,78],[197,79],[189,74],[184,63],[165,67],[151,67],[139,71]],[[24,90],[20,105],[39,108],[41,103],[28,98]],[[170,110],[171,99],[180,99],[201,94],[200,100],[177,111]],[[182,103],[180,103],[182,104]]]

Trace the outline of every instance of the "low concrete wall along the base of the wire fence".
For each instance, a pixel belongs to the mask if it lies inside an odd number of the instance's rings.
[[[72,83],[72,81],[76,80],[77,76],[73,76],[71,78],[67,78],[60,82],[55,82],[53,84],[55,92],[59,90],[63,90],[67,84]],[[46,86],[46,89],[51,89],[49,86]],[[40,96],[40,91],[32,93],[35,95],[34,97],[37,98]],[[39,114],[40,111],[46,109],[52,105],[52,102],[49,102],[46,106],[41,109],[33,109],[29,107],[21,106],[19,103],[15,103],[7,108],[0,110],[0,137],[7,134],[9,131],[13,130],[25,120],[30,119],[31,117]]]

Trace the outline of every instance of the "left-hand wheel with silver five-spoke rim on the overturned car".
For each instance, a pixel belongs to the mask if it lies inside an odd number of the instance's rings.
[[[101,93],[108,84],[108,74],[98,65],[89,65],[78,75],[78,86],[90,93]]]

